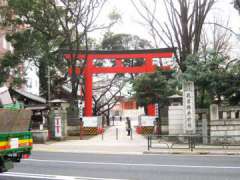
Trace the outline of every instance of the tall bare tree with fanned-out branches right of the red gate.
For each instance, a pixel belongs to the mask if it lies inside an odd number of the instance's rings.
[[[154,42],[167,47],[177,47],[176,61],[182,71],[186,70],[184,61],[189,54],[197,53],[200,46],[201,33],[207,14],[215,0],[163,0],[167,21],[162,22],[158,13],[157,0],[131,0],[132,4],[150,28]],[[159,45],[159,44],[156,44]]]

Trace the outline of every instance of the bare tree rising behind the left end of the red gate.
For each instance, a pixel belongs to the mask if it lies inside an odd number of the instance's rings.
[[[103,25],[97,26],[95,23],[106,0],[59,0],[59,3],[55,1],[49,2],[56,12],[62,29],[62,36],[65,37],[63,47],[70,52],[83,49],[85,50],[85,58],[87,59],[89,49],[88,33],[104,28]],[[61,8],[59,10],[59,5],[64,10],[64,16],[60,14]],[[76,99],[79,86],[79,78],[75,71],[77,65],[76,54],[72,54],[71,61],[68,61],[68,66],[72,68],[71,86],[73,99]],[[83,72],[86,59],[82,60],[83,64],[80,66],[80,72]]]

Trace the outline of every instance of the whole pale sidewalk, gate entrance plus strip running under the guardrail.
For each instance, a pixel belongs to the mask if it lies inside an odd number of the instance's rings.
[[[134,123],[133,123],[134,124]],[[33,151],[71,152],[71,153],[102,153],[102,154],[214,154],[214,155],[240,155],[237,149],[223,149],[220,147],[205,149],[163,149],[157,143],[148,150],[146,137],[136,133],[133,128],[132,139],[127,136],[125,121],[115,121],[114,126],[108,127],[103,136],[79,137],[65,141],[49,141],[46,144],[34,144]]]

